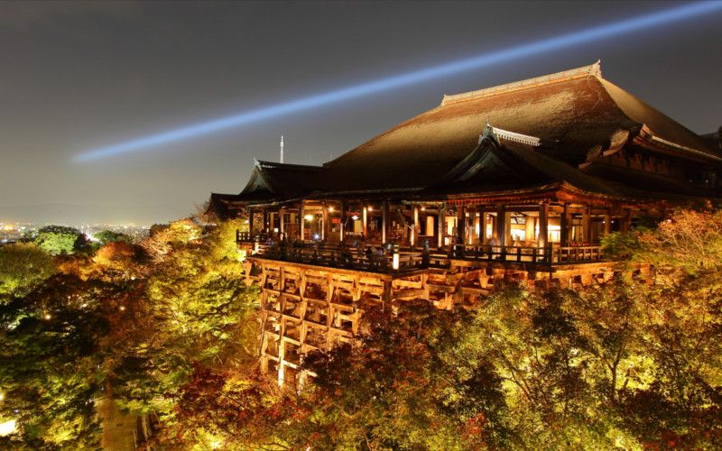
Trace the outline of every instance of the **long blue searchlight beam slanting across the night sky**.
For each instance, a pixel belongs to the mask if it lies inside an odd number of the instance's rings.
[[[702,14],[713,14],[722,10],[722,1],[698,2],[664,9],[652,14],[632,17],[615,23],[606,23],[597,27],[579,32],[569,32],[560,36],[528,42],[516,47],[492,51],[464,60],[456,60],[433,66],[427,69],[418,69],[393,77],[381,78],[351,87],[343,87],[326,93],[309,97],[301,97],[289,102],[265,106],[249,111],[228,115],[218,119],[201,122],[199,124],[185,125],[166,132],[154,133],[136,138],[124,143],[117,143],[100,149],[82,152],[73,157],[74,161],[87,162],[101,160],[106,157],[121,155],[128,152],[139,152],[149,147],[161,144],[203,136],[227,128],[239,127],[255,122],[264,121],[272,117],[290,115],[318,106],[329,105],[342,100],[364,97],[394,87],[403,87],[434,78],[441,78],[471,69],[482,69],[510,60],[518,60],[549,51],[557,51],[566,47],[579,45],[585,42],[597,41],[628,32],[658,27],[665,24],[680,22]]]

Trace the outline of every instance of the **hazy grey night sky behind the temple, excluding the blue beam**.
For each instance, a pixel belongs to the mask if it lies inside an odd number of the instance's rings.
[[[99,161],[79,152],[668,8],[668,2],[3,3],[0,221],[152,224],[253,159],[319,164],[443,94],[602,60],[606,79],[697,133],[722,125],[722,14]]]

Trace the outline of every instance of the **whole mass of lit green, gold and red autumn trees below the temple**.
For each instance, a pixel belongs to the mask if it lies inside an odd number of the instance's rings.
[[[607,237],[618,277],[589,289],[367,309],[353,343],[305,356],[296,390],[259,373],[243,226],[0,248],[0,420],[21,426],[0,446],[97,447],[112,392],[159,449],[722,447],[720,212]]]

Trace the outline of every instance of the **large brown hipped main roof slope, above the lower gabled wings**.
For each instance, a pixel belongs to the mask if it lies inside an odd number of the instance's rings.
[[[534,78],[446,97],[442,105],[326,163],[328,183],[338,190],[430,186],[476,147],[487,121],[555,143],[550,155],[575,165],[590,149],[607,146],[620,132],[635,133],[642,124],[666,141],[715,154],[697,134],[591,66],[565,78]]]

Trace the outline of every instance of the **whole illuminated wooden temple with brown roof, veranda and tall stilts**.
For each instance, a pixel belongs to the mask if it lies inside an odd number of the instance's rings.
[[[604,236],[717,203],[719,143],[597,62],[444,96],[322,166],[255,161],[209,213],[247,218],[237,241],[262,289],[262,363],[292,383],[302,356],[349,340],[366,308],[473,306],[499,281],[609,280]]]

